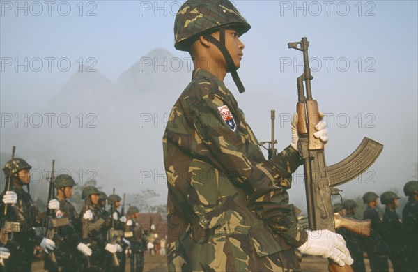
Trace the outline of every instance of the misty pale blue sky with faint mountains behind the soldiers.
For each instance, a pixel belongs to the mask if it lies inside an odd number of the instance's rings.
[[[37,169],[46,169],[55,158],[57,167],[70,169],[72,176],[84,173],[81,180],[93,173],[107,192],[115,185],[125,192],[152,188],[163,203],[164,121],[158,120],[170,112],[191,72],[188,54],[173,47],[181,3],[1,1],[1,153],[10,153],[14,144],[18,156],[29,156]],[[385,145],[369,172],[340,187],[344,197],[391,188],[401,192],[405,182],[417,179],[417,1],[233,3],[251,24],[242,36],[239,70],[247,92],[240,95],[229,75],[226,86],[258,140],[269,140],[270,109],[275,109],[277,148],[291,141],[289,116],[295,112],[296,77],[303,67],[302,54],[287,43],[307,36],[313,96],[329,126],[327,164],[346,158],[364,136]],[[155,49],[173,56],[144,58]],[[146,86],[138,86],[137,95],[128,98],[121,88],[91,91],[90,96],[88,89],[76,96],[77,90],[63,88],[77,71],[89,69],[109,80],[102,83],[107,89],[135,65],[148,71],[146,78],[157,84],[157,91],[141,92]],[[88,101],[77,107],[72,97]],[[117,103],[109,103],[114,97]],[[50,128],[45,113],[51,114]],[[15,122],[25,114],[28,128],[24,121]],[[59,114],[71,117],[70,128],[57,125]],[[36,128],[39,116],[44,122]],[[87,127],[89,121],[95,127]],[[45,188],[35,183],[33,190],[36,186]],[[303,194],[300,167],[291,202],[303,208]]]

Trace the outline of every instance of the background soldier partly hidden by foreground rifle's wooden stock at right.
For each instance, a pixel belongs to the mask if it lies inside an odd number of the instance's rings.
[[[354,200],[346,199],[343,204],[344,209],[346,210],[346,217],[359,219],[355,216],[357,211],[357,204]],[[342,232],[342,233],[341,233]],[[350,250],[351,257],[353,257],[353,265],[351,268],[354,272],[366,271],[364,266],[363,250],[361,247],[361,237],[359,237],[354,232],[350,232],[348,229],[343,229],[340,234],[343,235],[344,240],[347,242],[347,248]]]

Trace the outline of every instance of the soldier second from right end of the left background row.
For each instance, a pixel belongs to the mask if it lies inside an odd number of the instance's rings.
[[[122,246],[122,251],[118,252],[118,260],[119,260],[119,269],[118,271],[124,272],[125,266],[126,266],[126,255],[125,250],[127,248],[127,244],[123,243],[123,230],[124,225],[126,222],[125,215],[121,214],[118,209],[121,207],[121,197],[119,197],[116,194],[109,195],[109,198],[107,199],[108,204],[111,206],[111,209],[109,210],[109,215],[114,220],[114,230],[115,235],[114,239],[118,241],[119,245]]]

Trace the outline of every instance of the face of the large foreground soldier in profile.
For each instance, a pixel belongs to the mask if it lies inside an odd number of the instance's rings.
[[[217,40],[219,40],[219,36],[220,36],[219,31],[213,33],[212,36],[214,36]],[[235,64],[235,67],[240,68],[241,59],[242,59],[242,56],[244,55],[242,53],[242,50],[244,50],[245,46],[241,42],[240,38],[238,38],[238,32],[235,31],[234,29],[225,30],[225,46],[233,59],[233,63]],[[219,63],[221,63],[223,67],[226,67],[226,60],[220,51],[219,51]],[[218,64],[218,63],[215,63],[215,64]]]

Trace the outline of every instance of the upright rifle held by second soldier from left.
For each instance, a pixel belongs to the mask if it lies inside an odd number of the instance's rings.
[[[55,198],[54,193],[54,168],[55,168],[55,160],[52,160],[52,169],[51,169],[51,176],[49,176],[49,191],[48,191],[48,202],[49,203],[52,199]],[[47,238],[54,240],[55,236],[55,225],[54,224],[54,211],[52,209],[47,208]],[[49,253],[45,253],[44,257],[44,269],[48,271],[58,271],[58,266],[56,265],[55,253],[54,251],[50,250]]]

